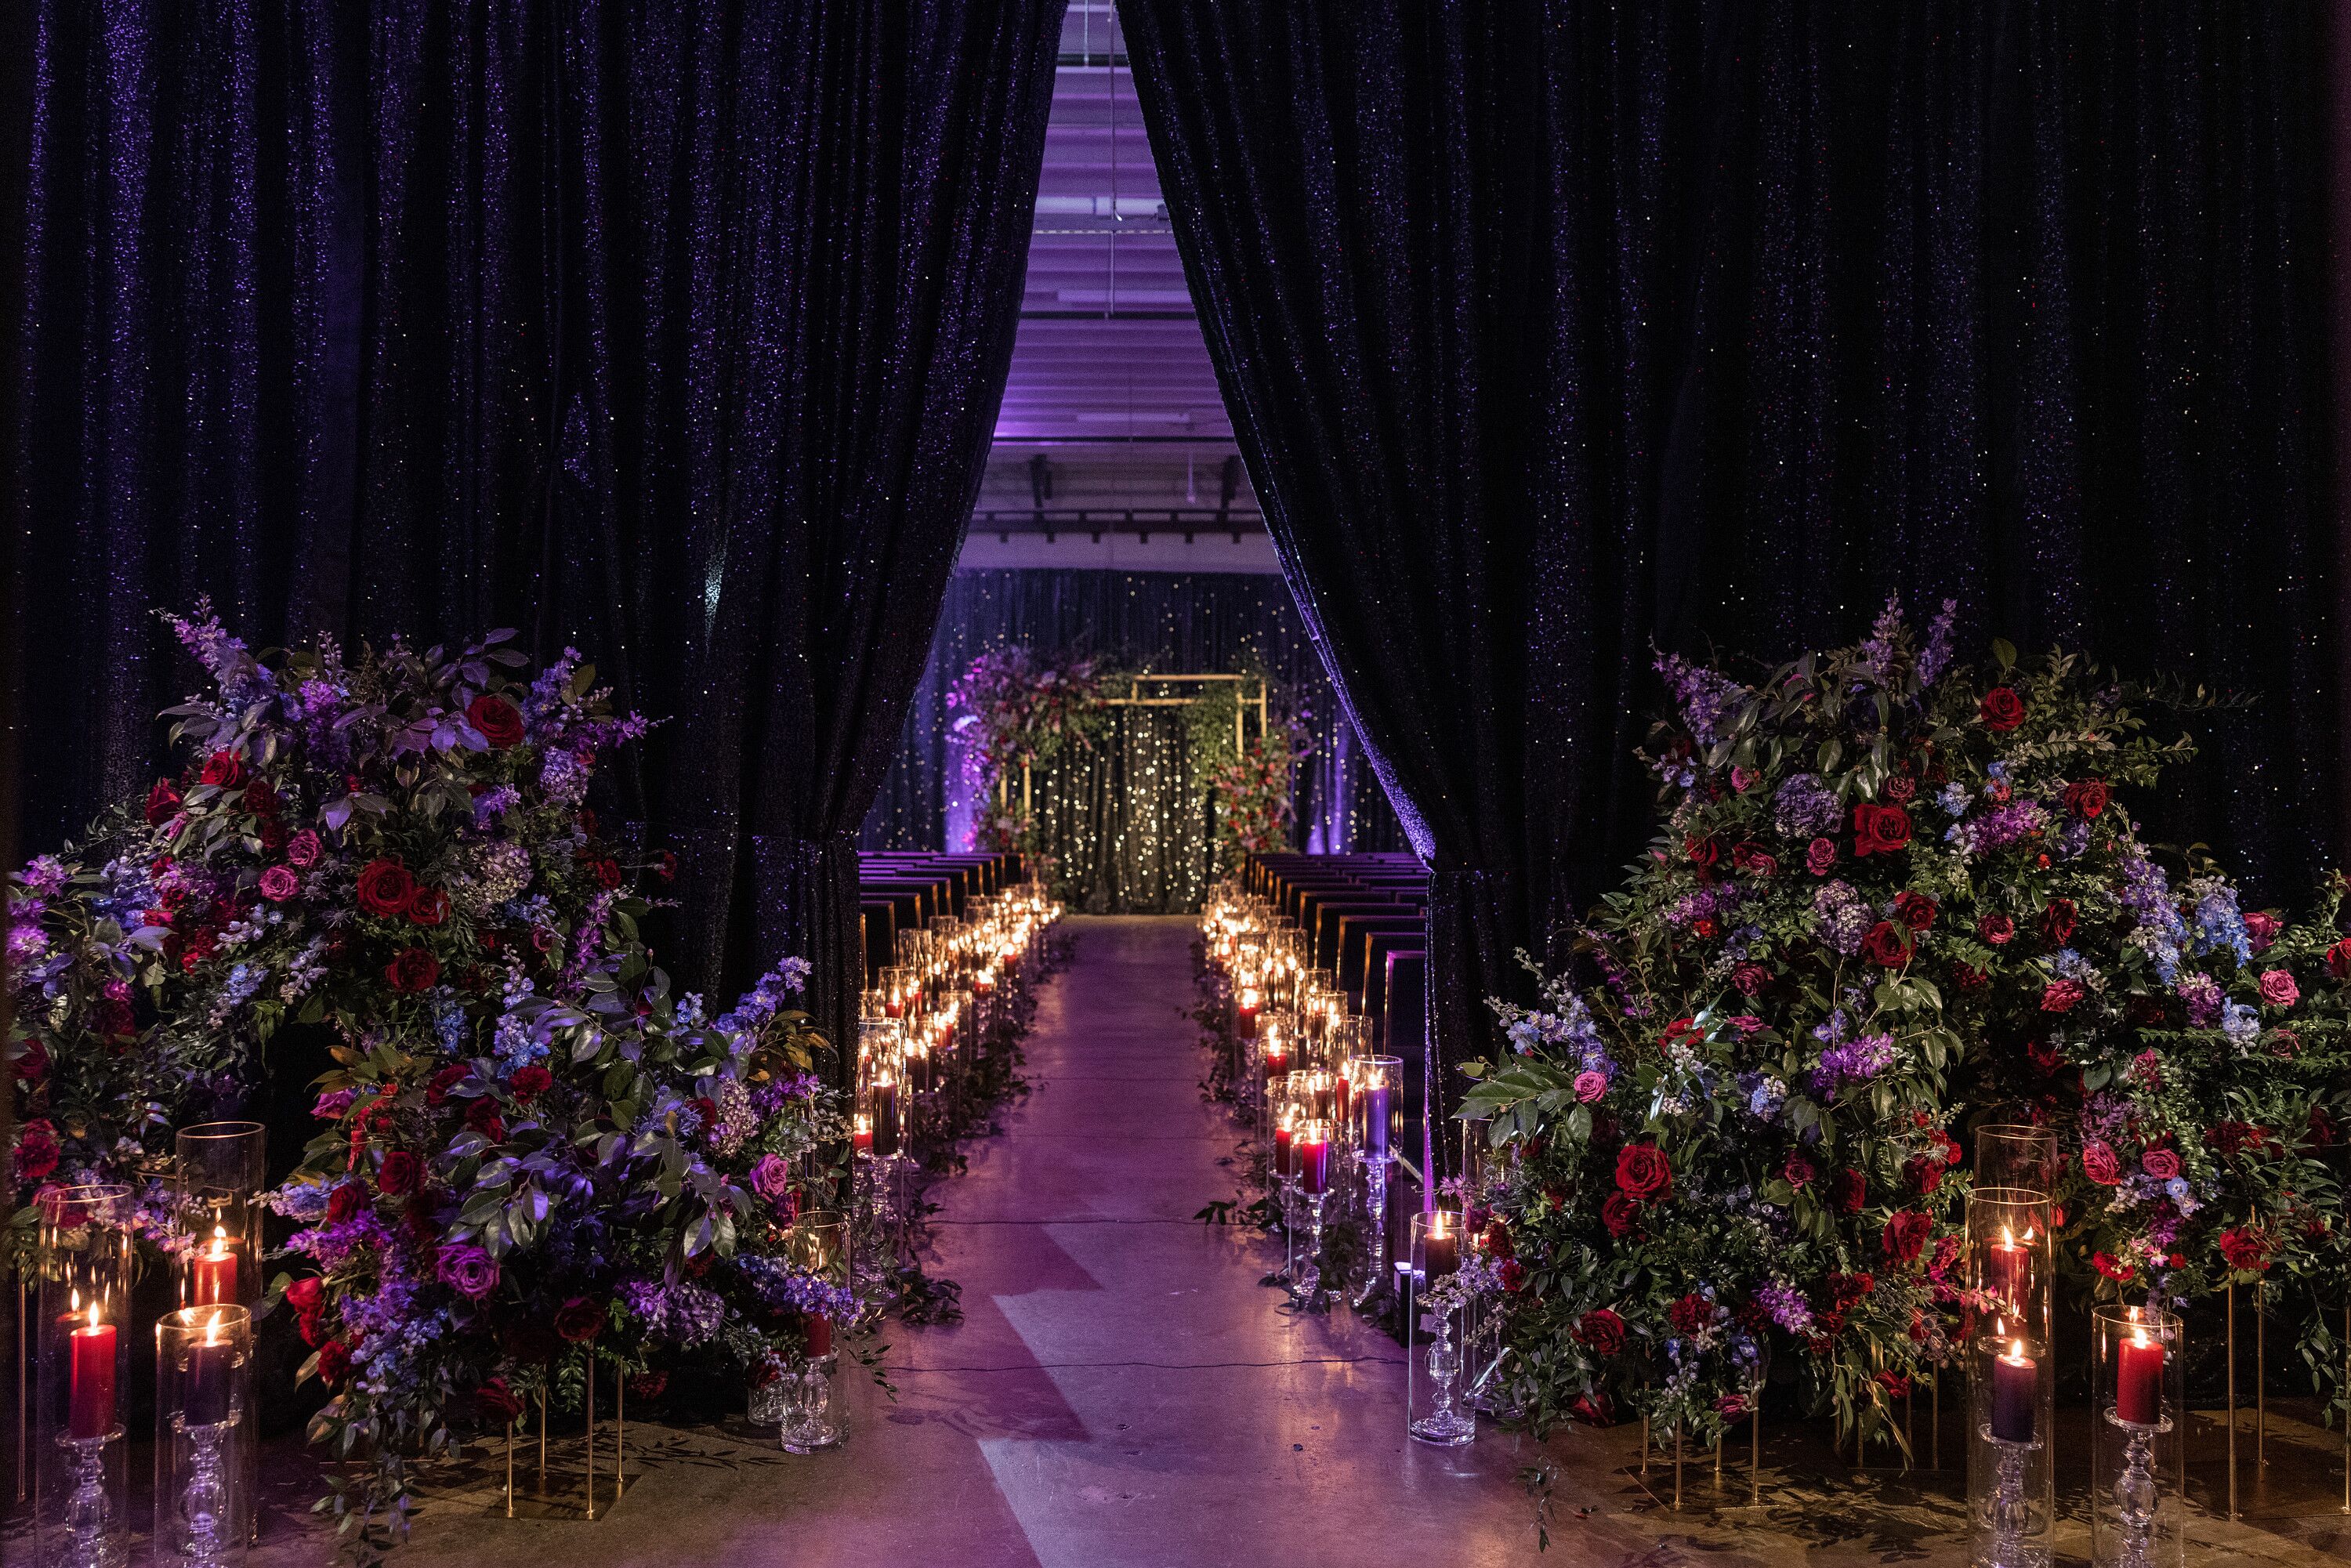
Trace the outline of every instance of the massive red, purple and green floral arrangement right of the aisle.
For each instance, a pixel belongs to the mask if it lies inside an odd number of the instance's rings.
[[[1660,835],[1542,1004],[1495,1004],[1512,1053],[1462,1110],[1509,1152],[1467,1201],[1538,1425],[1632,1406],[1704,1441],[1789,1356],[1900,1441],[1893,1401],[1987,1305],[1980,1121],[2057,1133],[2078,1295],[2266,1276],[2306,1347],[2339,1314],[2339,884],[2288,924],[2142,842],[2125,792],[2191,755],[2146,715],[2203,693],[2008,644],[1972,670],[1951,614],[1754,679],[1660,661]]]

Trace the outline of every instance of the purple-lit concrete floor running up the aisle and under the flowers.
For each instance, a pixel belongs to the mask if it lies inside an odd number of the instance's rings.
[[[933,1274],[964,1321],[891,1326],[889,1380],[849,1394],[844,1450],[792,1458],[734,1432],[632,1427],[663,1458],[600,1523],[433,1507],[400,1561],[567,1568],[1321,1568],[1357,1563],[1963,1563],[1933,1488],[1848,1488],[1782,1507],[1672,1514],[1620,1465],[1636,1429],[1554,1439],[1566,1472],[1552,1549],[1535,1552],[1523,1439],[1458,1453],[1404,1436],[1392,1340],[1293,1319],[1258,1286],[1262,1239],[1192,1220],[1234,1197],[1237,1135],[1201,1103],[1187,919],[1074,919],[1077,964],[1041,999],[1030,1093],[971,1171],[933,1187]],[[315,1469],[273,1467],[259,1568],[331,1549],[301,1516]],[[635,1472],[637,1467],[632,1467]],[[1947,1488],[1944,1488],[1947,1490]],[[2210,1530],[2219,1530],[2215,1537]],[[2205,1526],[2193,1552],[2309,1568],[2351,1559]],[[2078,1549],[2078,1547],[2076,1547]]]

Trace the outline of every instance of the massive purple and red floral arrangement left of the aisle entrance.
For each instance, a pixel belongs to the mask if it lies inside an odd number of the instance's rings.
[[[357,1549],[451,1422],[531,1387],[562,1406],[590,1361],[757,1378],[804,1314],[853,1316],[785,1246],[844,1138],[790,1006],[806,964],[715,1018],[670,992],[635,884],[675,863],[585,806],[647,724],[592,668],[524,679],[510,632],[346,661],[172,625],[212,677],[172,710],[190,764],[9,889],[12,1175],[141,1180],[172,1246],[172,1128],[230,1110],[284,1025],[331,1039],[322,1131],[268,1197],[292,1222],[268,1305],[329,1387],[313,1436],[374,1460],[331,1500]]]

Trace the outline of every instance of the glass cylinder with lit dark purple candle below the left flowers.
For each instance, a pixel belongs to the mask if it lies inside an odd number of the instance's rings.
[[[155,1324],[155,1559],[245,1561],[254,1516],[254,1316],[240,1305]]]

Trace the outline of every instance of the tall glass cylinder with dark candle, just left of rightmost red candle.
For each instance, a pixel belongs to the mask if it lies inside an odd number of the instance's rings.
[[[2050,1199],[2029,1187],[1968,1194],[1968,1535],[1977,1568],[2048,1568],[2057,1469],[2050,1436]]]

